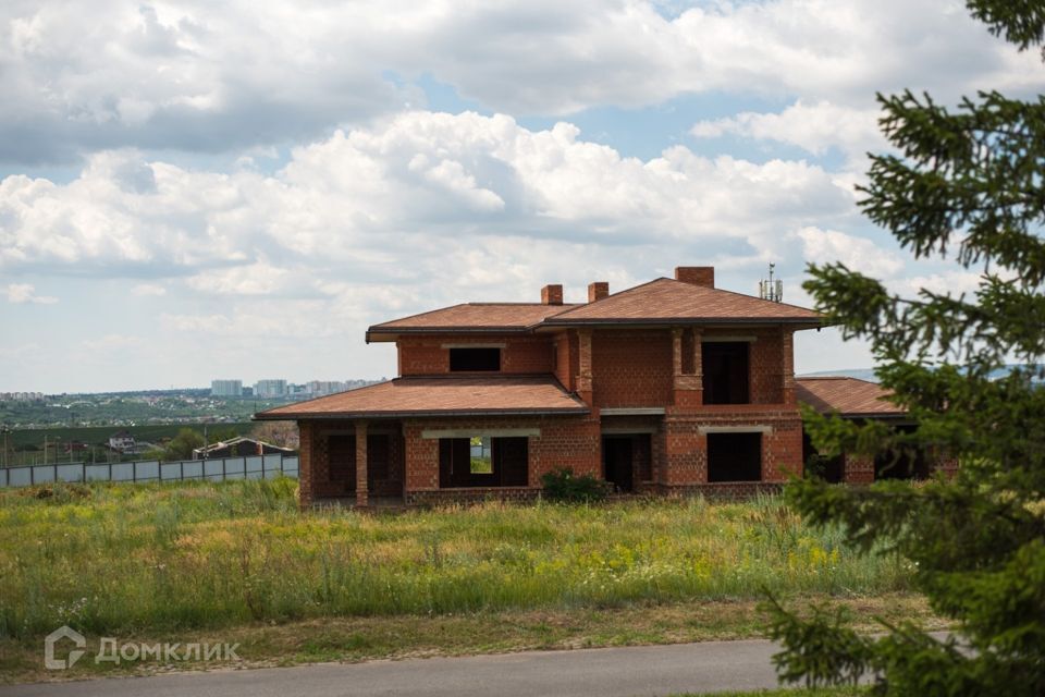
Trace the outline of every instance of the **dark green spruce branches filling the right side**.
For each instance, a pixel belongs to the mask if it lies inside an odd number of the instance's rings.
[[[967,4],[1019,50],[1042,44],[1041,0]],[[811,266],[817,307],[846,338],[870,341],[882,384],[919,424],[896,433],[824,417],[811,430],[829,452],[921,447],[960,467],[923,487],[797,480],[788,497],[868,553],[906,557],[914,587],[956,632],[860,636],[844,617],[801,621],[774,600],[777,667],[809,684],[874,672],[882,695],[1045,694],[1045,98],[878,99],[897,151],[872,156],[864,212],[914,257],[980,273],[979,286],[905,298],[844,265]],[[1011,363],[1022,367],[999,370]]]

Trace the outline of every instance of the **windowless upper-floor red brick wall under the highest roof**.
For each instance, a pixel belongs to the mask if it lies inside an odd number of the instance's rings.
[[[665,406],[673,401],[667,330],[597,330],[591,337],[597,406]]]

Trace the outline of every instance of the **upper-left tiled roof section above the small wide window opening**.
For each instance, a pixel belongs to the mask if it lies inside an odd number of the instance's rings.
[[[392,341],[397,334],[440,332],[515,332],[539,325],[545,317],[577,305],[542,303],[464,303],[374,325],[367,342]]]

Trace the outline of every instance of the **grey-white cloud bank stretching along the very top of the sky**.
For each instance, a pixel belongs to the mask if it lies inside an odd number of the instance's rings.
[[[952,0],[718,3],[673,19],[640,0],[89,7],[89,22],[61,0],[0,10],[0,159],[307,142],[421,107],[421,75],[515,114],[714,91],[865,110],[875,90],[1043,85],[1033,51],[1016,54]]]

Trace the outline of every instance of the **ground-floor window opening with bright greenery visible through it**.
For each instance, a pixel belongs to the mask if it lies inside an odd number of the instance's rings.
[[[529,440],[522,438],[439,439],[439,486],[525,487],[529,484]]]

